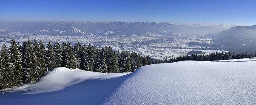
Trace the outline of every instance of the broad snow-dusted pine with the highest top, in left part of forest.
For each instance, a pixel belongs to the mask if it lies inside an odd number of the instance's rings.
[[[23,67],[23,82],[24,83],[30,83],[32,81],[35,81],[38,79],[39,72],[37,72],[37,65],[35,61],[35,53],[33,45],[28,38],[28,41],[26,42],[26,49],[25,49],[25,55],[24,55],[24,67]]]

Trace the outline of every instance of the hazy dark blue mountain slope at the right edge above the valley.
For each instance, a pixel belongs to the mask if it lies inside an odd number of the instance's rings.
[[[256,52],[256,25],[237,26],[221,33],[210,36],[225,50],[233,52]]]

